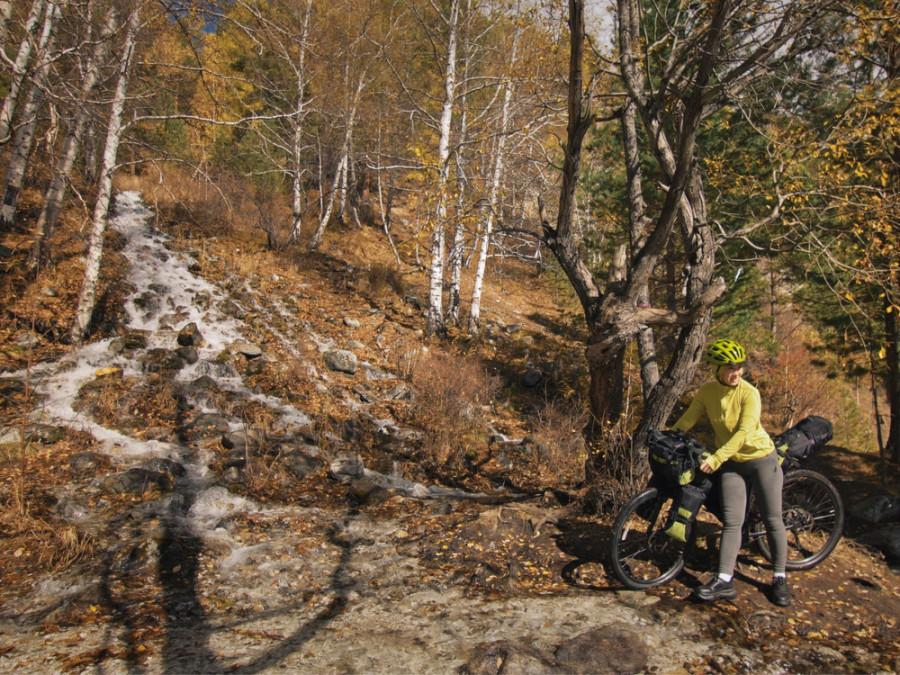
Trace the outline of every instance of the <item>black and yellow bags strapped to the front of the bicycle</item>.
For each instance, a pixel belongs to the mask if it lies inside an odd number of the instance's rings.
[[[675,493],[665,532],[673,539],[687,541],[712,489],[712,481],[698,471],[709,451],[680,431],[651,431],[647,447],[651,471]]]

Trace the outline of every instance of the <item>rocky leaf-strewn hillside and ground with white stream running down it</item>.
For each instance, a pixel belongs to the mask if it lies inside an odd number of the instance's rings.
[[[786,609],[751,552],[734,601],[687,600],[712,554],[625,590],[611,518],[535,478],[549,450],[516,415],[495,410],[486,447],[438,470],[409,424],[414,298],[354,304],[360,276],[335,258],[328,276],[239,280],[222,250],[140,218],[117,232],[123,269],[144,272],[114,328],[32,345],[38,362],[0,378],[4,672],[900,670],[900,580],[860,520],[791,576]],[[554,363],[517,311],[488,340],[534,386]],[[810,465],[851,505],[884,489],[837,445]]]

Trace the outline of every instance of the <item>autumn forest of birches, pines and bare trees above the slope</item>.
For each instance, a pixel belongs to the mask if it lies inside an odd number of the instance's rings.
[[[831,0],[4,0],[4,331],[102,333],[130,177],[165,217],[300,266],[375,228],[389,255],[370,274],[425,283],[423,338],[448,350],[482,334],[500,261],[540,270],[577,308],[584,370],[552,398],[588,412],[598,503],[640,473],[710,333],[754,355],[773,428],[868,392],[867,413],[826,412],[886,476],[898,18]],[[786,297],[810,330],[779,334]],[[810,365],[833,390],[806,386]]]

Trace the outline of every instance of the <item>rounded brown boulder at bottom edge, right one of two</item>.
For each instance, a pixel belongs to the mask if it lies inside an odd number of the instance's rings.
[[[603,626],[560,645],[556,660],[573,673],[639,673],[649,649],[639,633],[622,626]]]

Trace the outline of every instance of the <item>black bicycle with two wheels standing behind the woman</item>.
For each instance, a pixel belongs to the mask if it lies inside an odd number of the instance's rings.
[[[789,436],[796,428],[776,437],[776,448],[783,458],[785,472],[782,517],[788,535],[786,567],[788,570],[805,570],[818,565],[834,551],[843,532],[844,507],[831,481],[817,471],[800,467],[801,457],[808,456],[815,449],[815,443],[792,451]],[[830,435],[825,442],[827,440]],[[817,442],[824,445],[821,439]],[[717,488],[713,481],[703,511],[720,521]],[[671,581],[695,553],[700,528],[692,527],[685,541],[666,533],[676,517],[678,494],[677,484],[672,485],[654,475],[648,486],[631,498],[617,515],[610,558],[613,572],[628,588],[640,590]],[[749,545],[755,545],[771,562],[765,524],[752,491],[747,500],[743,528],[743,547]]]

